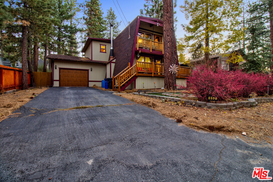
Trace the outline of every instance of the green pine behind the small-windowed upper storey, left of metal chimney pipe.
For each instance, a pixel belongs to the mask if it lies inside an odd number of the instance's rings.
[[[105,21],[100,6],[99,0],[86,0],[84,4],[81,4],[84,10],[83,19],[86,26],[86,37],[105,37]]]

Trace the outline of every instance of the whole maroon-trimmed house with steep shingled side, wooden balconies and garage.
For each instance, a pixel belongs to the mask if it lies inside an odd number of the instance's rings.
[[[110,77],[117,90],[162,88],[163,46],[163,22],[137,16],[112,43],[89,37],[82,49],[84,58],[56,54],[46,58],[52,63],[53,86],[101,86],[101,80]],[[179,66],[176,84],[186,85],[189,74],[189,67]]]

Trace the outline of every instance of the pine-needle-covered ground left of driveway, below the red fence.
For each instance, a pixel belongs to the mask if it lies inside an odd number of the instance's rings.
[[[20,90],[14,93],[0,95],[0,122],[8,117],[12,112],[19,109],[22,105],[29,102],[48,88],[34,88]]]

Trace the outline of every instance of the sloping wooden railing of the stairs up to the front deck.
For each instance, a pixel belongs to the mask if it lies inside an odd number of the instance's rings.
[[[133,76],[136,76],[137,70],[136,70],[136,64],[134,64],[132,67],[129,66],[126,67],[124,70],[122,70],[120,73],[118,73],[116,76],[113,76],[113,89],[118,86],[118,91],[120,92],[120,88],[122,85],[124,85],[128,80],[130,80]]]

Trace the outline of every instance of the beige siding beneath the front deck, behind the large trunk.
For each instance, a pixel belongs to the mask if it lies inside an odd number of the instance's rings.
[[[136,89],[143,89],[143,82],[144,82],[144,89],[164,88],[164,77],[139,76],[136,78],[135,82],[136,82]],[[132,84],[129,85],[131,89],[132,89]],[[187,86],[186,79],[177,78],[176,85],[182,85],[182,84],[184,86]]]

